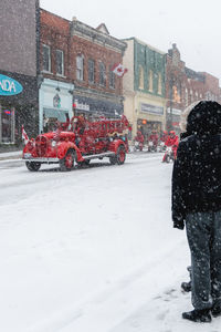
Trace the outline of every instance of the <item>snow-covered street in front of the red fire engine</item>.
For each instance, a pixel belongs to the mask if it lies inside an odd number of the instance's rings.
[[[181,319],[192,309],[180,290],[190,257],[161,158],[71,173],[0,162],[0,331],[220,331],[221,319]]]

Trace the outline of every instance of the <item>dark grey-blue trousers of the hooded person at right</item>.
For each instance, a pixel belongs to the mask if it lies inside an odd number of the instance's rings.
[[[189,214],[187,238],[191,252],[192,305],[221,304],[221,210]]]

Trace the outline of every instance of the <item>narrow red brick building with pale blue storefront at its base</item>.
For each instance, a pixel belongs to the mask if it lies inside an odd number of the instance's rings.
[[[70,21],[40,10],[39,129],[71,118],[74,85],[70,75]]]

